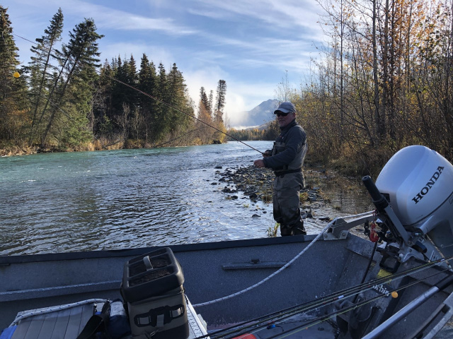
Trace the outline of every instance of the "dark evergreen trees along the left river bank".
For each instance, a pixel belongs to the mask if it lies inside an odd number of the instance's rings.
[[[219,80],[215,99],[212,90],[200,88],[195,112],[176,64],[167,71],[146,54],[138,67],[132,54],[101,64],[98,40],[103,36],[93,19],[76,25],[69,42],[60,46],[63,20],[59,8],[44,35],[32,42],[30,63],[19,67],[13,26],[0,6],[4,153],[224,142],[226,81]]]

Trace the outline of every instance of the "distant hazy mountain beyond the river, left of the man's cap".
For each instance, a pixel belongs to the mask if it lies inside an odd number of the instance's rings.
[[[274,111],[277,109],[278,104],[278,100],[269,99],[263,101],[260,105],[250,111],[243,111],[239,114],[234,114],[236,119],[235,121],[231,121],[231,125],[235,129],[247,129],[267,124],[269,121],[274,119]]]

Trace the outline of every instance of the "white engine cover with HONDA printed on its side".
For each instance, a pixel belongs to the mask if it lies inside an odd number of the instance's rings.
[[[428,234],[444,256],[453,255],[453,165],[435,150],[399,150],[376,181],[404,229]]]

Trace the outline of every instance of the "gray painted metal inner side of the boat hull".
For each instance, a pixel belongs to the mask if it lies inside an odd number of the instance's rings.
[[[178,245],[171,246],[171,249],[183,268],[185,295],[192,304],[198,304],[258,283],[299,254],[312,239],[314,236],[277,237]],[[0,257],[0,328],[8,326],[24,309],[81,299],[120,297],[124,264],[134,256],[155,249]],[[320,239],[291,266],[266,283],[243,295],[195,307],[195,311],[210,327],[218,328],[319,299],[360,284],[372,249],[371,242],[352,234],[335,241]],[[380,254],[374,254],[374,261],[379,258]],[[376,276],[378,266],[373,268],[372,265],[371,276]],[[427,275],[430,273],[432,270],[425,272]],[[423,280],[401,295],[396,301],[395,311],[429,290],[433,283],[429,279]],[[407,333],[408,328],[423,323],[429,312],[445,301],[449,292],[451,289],[438,292],[423,307],[406,316],[386,333],[390,335],[388,338],[401,338],[403,331]],[[318,312],[326,314],[334,307],[323,307]],[[323,332],[322,335],[326,334]]]

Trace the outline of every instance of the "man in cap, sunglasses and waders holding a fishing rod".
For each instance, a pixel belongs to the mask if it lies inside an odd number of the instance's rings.
[[[274,219],[280,223],[282,236],[306,234],[304,220],[299,209],[299,192],[305,187],[302,165],[306,154],[306,135],[296,122],[296,107],[292,102],[282,102],[275,109],[280,126],[280,136],[272,150],[263,153],[263,159],[255,160],[258,168],[272,168]]]

